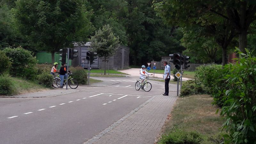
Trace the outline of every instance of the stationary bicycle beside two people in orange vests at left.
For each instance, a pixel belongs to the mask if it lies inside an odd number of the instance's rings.
[[[78,87],[78,82],[76,79],[72,78],[72,71],[68,74],[68,85],[71,89],[76,89]],[[64,79],[63,86],[65,85],[67,79]],[[58,75],[53,79],[53,87],[59,88],[60,87],[60,76]]]

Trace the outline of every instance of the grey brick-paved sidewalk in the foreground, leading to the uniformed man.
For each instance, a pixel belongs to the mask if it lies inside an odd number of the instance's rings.
[[[84,144],[153,144],[177,96],[154,96]]]

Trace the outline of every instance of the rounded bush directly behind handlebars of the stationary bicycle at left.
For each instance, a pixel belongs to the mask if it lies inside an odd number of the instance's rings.
[[[72,78],[76,79],[78,84],[86,84],[87,82],[87,73],[82,67],[71,67],[70,71],[73,71]]]

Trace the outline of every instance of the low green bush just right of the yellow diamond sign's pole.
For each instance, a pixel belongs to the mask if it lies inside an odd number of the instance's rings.
[[[182,83],[180,88],[180,97],[189,96],[192,94],[208,94],[209,89],[205,88],[204,85],[196,83],[195,80],[187,80]]]

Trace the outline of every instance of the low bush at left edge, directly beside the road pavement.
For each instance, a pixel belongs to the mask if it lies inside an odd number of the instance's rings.
[[[13,92],[12,80],[9,76],[0,76],[0,94],[8,95]]]

